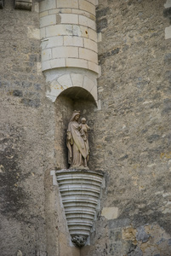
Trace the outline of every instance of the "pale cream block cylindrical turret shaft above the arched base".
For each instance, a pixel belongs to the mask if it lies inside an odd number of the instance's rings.
[[[40,3],[43,70],[82,67],[99,73],[95,1]]]

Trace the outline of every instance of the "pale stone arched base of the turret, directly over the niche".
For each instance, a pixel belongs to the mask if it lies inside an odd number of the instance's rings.
[[[60,68],[44,72],[47,82],[49,83],[46,96],[55,102],[61,93],[68,97],[94,98],[97,105],[97,75],[94,72],[84,70],[82,68]],[[69,90],[70,89],[70,90]],[[70,96],[71,94],[71,96]]]

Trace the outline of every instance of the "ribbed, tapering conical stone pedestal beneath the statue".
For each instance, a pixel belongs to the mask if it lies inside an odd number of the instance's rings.
[[[83,247],[89,236],[103,176],[100,171],[56,171],[71,241],[77,247]]]

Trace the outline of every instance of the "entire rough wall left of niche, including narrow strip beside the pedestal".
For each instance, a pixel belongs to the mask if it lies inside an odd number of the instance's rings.
[[[58,117],[41,70],[39,4],[27,11],[5,1],[0,20],[0,254],[77,255],[50,175],[63,162],[56,158]]]

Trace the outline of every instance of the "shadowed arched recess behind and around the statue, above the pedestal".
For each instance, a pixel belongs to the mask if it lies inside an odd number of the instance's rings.
[[[56,169],[67,169],[67,148],[66,148],[66,131],[68,123],[74,110],[81,111],[81,118],[86,118],[91,131],[88,134],[90,147],[90,158],[88,167],[91,168],[91,151],[94,148],[94,109],[96,102],[94,97],[80,87],[71,87],[60,93],[55,101],[55,159]]]

